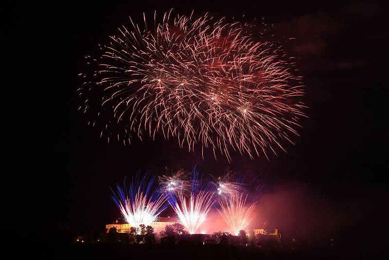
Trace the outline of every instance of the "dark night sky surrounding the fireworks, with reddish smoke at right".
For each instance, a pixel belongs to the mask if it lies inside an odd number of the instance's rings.
[[[352,237],[356,228],[384,219],[389,36],[383,3],[125,2],[36,4],[18,13],[21,20],[13,19],[20,32],[15,44],[28,71],[19,75],[27,79],[18,91],[26,97],[28,120],[23,120],[23,151],[15,153],[23,158],[21,167],[27,166],[18,178],[29,181],[25,199],[36,224],[100,231],[119,215],[109,186],[139,169],[159,174],[165,166],[195,165],[215,175],[227,167],[262,173],[260,184],[267,186],[259,219],[287,236]],[[284,143],[287,153],[270,160],[237,155],[229,164],[222,156],[203,160],[198,151],[179,149],[175,140],[106,144],[98,130],[87,127],[77,111],[83,57],[96,53],[97,44],[119,26],[129,25],[129,16],[140,21],[143,11],[152,16],[155,9],[162,14],[171,7],[179,14],[194,9],[198,15],[265,18],[275,24],[275,34],[296,38],[285,49],[300,58],[309,119],[301,121],[295,146]]]

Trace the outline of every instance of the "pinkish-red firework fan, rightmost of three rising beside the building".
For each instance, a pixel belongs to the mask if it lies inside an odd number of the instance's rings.
[[[256,200],[246,203],[247,192],[235,192],[230,197],[220,200],[220,209],[217,209],[224,221],[228,224],[230,232],[237,236],[239,231],[245,229],[255,217]]]

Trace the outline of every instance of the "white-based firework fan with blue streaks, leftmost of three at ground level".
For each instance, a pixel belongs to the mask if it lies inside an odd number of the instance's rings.
[[[113,201],[131,226],[139,227],[140,224],[149,225],[155,222],[168,206],[166,196],[156,191],[154,183],[155,177],[148,179],[145,175],[139,180],[137,175],[128,188],[124,180],[123,188],[117,185],[116,192],[111,189]]]

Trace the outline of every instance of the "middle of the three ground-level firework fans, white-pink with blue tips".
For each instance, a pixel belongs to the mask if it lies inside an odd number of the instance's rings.
[[[201,179],[198,179],[196,172],[193,174],[189,194],[183,186],[177,192],[170,193],[169,204],[190,234],[195,234],[206,219],[213,204],[213,194],[211,186],[201,187]]]

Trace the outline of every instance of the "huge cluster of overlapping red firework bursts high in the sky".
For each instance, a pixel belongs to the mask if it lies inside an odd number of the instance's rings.
[[[155,14],[152,29],[144,17],[144,26],[119,32],[80,74],[79,110],[99,117],[89,123],[98,122],[108,141],[160,132],[230,160],[231,149],[253,158],[297,134],[303,87],[280,44],[208,15],[169,13],[159,23]]]

